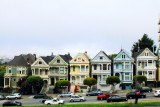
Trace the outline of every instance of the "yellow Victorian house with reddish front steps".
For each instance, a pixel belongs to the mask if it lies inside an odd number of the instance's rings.
[[[86,92],[88,87],[83,84],[83,80],[90,77],[90,58],[85,53],[78,53],[70,61],[70,82],[71,89],[73,92]]]

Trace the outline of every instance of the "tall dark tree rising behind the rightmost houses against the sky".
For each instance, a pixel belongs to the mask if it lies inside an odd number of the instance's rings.
[[[132,46],[132,56],[135,52],[138,52],[138,47],[141,49],[149,48],[153,53],[156,51],[156,45],[154,45],[154,40],[148,38],[147,34],[144,34],[138,42],[135,42]]]

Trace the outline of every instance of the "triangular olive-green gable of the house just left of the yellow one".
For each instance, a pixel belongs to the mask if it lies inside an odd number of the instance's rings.
[[[49,65],[68,65],[68,63],[57,55],[51,62],[49,62]]]

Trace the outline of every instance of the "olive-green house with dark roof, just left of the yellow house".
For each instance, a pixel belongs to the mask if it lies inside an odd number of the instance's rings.
[[[59,80],[69,80],[70,66],[69,61],[72,59],[70,54],[57,55],[50,61],[49,81],[54,85]]]

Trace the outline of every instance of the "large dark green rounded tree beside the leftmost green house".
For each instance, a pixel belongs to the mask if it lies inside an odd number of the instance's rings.
[[[28,92],[39,93],[43,87],[43,79],[39,76],[29,76],[25,87]]]

